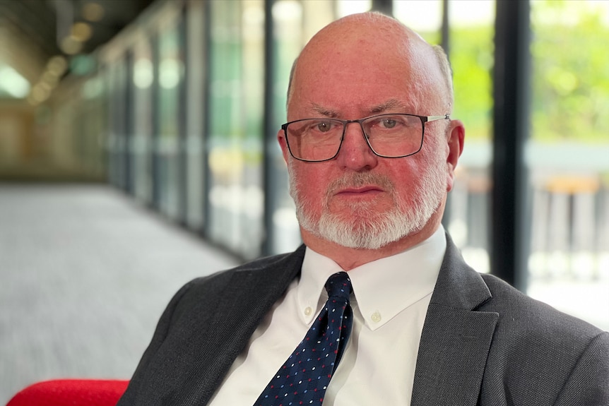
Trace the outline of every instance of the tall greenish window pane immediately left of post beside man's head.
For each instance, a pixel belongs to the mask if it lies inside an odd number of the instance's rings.
[[[210,8],[207,233],[254,258],[264,236],[264,2],[213,1]]]

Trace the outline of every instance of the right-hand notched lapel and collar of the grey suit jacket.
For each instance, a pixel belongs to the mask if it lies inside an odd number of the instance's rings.
[[[447,253],[418,351],[411,406],[476,405],[499,315],[475,311],[491,299],[447,235]]]

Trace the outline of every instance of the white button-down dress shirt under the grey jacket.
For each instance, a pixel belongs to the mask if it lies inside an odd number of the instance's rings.
[[[410,405],[421,332],[444,251],[440,226],[407,251],[348,271],[353,331],[324,406]],[[341,270],[307,247],[300,280],[256,328],[211,406],[254,405],[324,306],[326,280]]]

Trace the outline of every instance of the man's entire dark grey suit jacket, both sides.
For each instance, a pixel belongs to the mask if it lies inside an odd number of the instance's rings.
[[[411,405],[609,406],[609,333],[476,273],[447,243]],[[182,287],[118,406],[206,405],[304,255],[301,246]]]

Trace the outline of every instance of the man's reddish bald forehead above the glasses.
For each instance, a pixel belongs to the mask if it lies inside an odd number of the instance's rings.
[[[365,30],[364,30],[365,31]],[[430,95],[425,54],[408,37],[371,32],[333,32],[310,42],[299,57],[292,81],[288,118],[321,106],[337,114],[374,113],[392,102],[392,111],[421,113]]]

